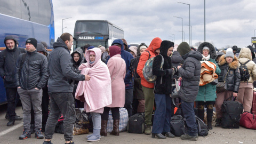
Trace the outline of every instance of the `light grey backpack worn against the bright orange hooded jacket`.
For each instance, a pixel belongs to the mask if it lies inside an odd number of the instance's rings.
[[[149,51],[147,51],[149,53]],[[161,54],[159,54],[161,55]],[[160,68],[163,69],[163,65],[164,65],[164,58],[162,57],[162,62],[161,62],[161,66]],[[145,63],[144,68],[142,69],[142,73],[143,76],[145,77],[145,79],[147,80],[147,82],[149,83],[155,83],[157,76],[153,75],[153,62],[154,62],[154,58],[150,58],[150,53],[149,53],[149,59],[147,60],[147,62]]]

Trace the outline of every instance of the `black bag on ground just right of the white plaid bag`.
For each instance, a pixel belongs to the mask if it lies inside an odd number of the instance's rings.
[[[127,124],[127,130],[129,133],[144,133],[145,115],[142,113],[138,113],[131,116]]]

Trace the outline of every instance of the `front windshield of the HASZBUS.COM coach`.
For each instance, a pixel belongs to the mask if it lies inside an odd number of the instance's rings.
[[[102,21],[79,21],[76,22],[75,34],[106,34],[108,35],[108,22]]]

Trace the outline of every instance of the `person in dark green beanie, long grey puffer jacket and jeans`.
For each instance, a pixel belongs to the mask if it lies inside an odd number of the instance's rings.
[[[182,81],[180,91],[178,92],[181,98],[181,108],[186,123],[188,125],[188,133],[181,135],[182,140],[197,140],[198,131],[194,112],[194,101],[199,89],[199,81],[201,74],[201,62],[203,58],[199,52],[191,51],[188,43],[182,42],[177,51],[180,53],[184,62],[182,66],[178,66],[179,74]]]

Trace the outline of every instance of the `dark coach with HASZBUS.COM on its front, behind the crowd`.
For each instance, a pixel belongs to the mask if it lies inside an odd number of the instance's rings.
[[[73,50],[86,44],[98,47],[111,46],[115,39],[124,38],[124,30],[107,20],[77,20],[74,30]]]

